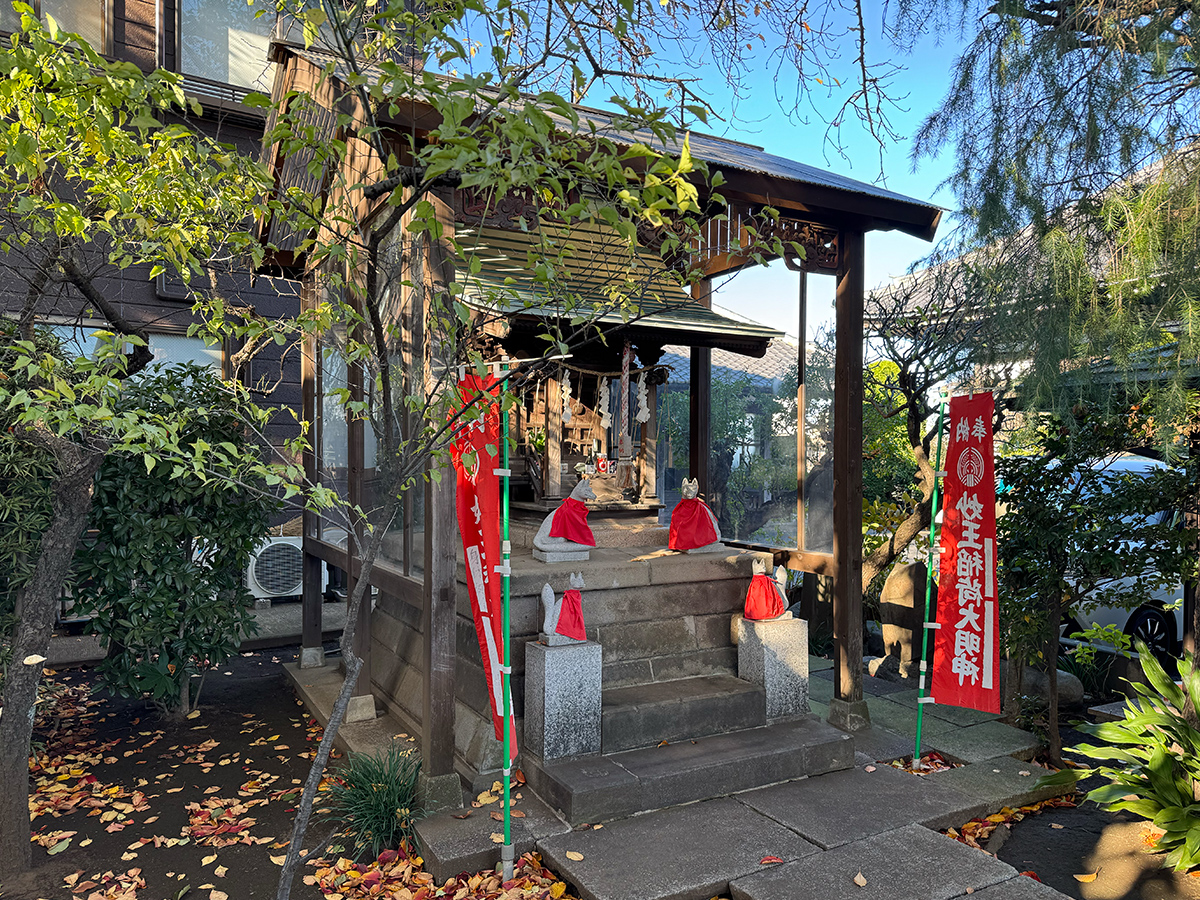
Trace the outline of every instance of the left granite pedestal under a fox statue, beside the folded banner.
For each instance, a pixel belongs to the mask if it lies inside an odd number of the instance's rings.
[[[542,760],[600,752],[602,650],[526,644],[524,746]]]

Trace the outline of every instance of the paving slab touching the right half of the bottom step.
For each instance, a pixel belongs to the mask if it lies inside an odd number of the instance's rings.
[[[964,812],[976,805],[948,785],[890,766],[773,785],[737,799],[824,850],[912,822],[932,828],[962,824]]]

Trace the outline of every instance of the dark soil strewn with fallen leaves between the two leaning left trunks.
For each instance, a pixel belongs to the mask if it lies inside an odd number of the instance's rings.
[[[43,719],[36,736],[34,829],[41,846],[34,847],[32,876],[4,886],[5,900],[96,890],[154,900],[206,900],[214,890],[217,898],[274,896],[280,870],[271,857],[284,852],[278,844],[290,832],[308,769],[304,757],[319,739],[278,666],[292,655],[230,660],[209,674],[200,714],[181,721],[139,701],[90,694],[89,672],[54,676],[66,694],[59,715]],[[190,804],[198,806],[190,811]],[[205,816],[229,822],[224,833],[190,835]],[[312,900],[320,892],[298,880],[293,896]]]

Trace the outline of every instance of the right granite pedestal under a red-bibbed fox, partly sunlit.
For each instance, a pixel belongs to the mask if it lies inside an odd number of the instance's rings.
[[[762,685],[767,721],[809,712],[809,623],[736,617],[738,678]]]

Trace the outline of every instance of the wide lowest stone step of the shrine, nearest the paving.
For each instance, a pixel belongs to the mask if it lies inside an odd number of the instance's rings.
[[[853,739],[816,716],[638,750],[541,762],[522,756],[539,797],[571,824],[820,775],[854,764]]]

